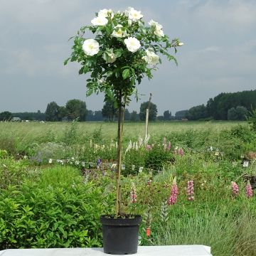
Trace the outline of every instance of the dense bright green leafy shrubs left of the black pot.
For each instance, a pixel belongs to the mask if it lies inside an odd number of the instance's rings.
[[[83,184],[77,170],[47,169],[19,189],[1,190],[0,248],[99,247],[100,215],[113,205],[111,193]]]

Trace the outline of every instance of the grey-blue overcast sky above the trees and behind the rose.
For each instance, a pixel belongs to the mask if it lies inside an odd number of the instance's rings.
[[[45,112],[49,102],[71,99],[101,110],[104,97],[86,97],[79,65],[63,65],[68,38],[100,9],[129,6],[184,43],[178,66],[163,57],[154,78],[138,86],[140,100],[130,111],[139,111],[150,92],[161,115],[206,104],[220,92],[256,89],[255,0],[0,0],[0,112]]]

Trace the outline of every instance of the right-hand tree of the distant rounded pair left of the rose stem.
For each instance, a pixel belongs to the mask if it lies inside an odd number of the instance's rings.
[[[65,109],[69,120],[74,120],[76,118],[79,118],[78,121],[80,122],[86,120],[87,108],[85,102],[82,100],[68,100]]]

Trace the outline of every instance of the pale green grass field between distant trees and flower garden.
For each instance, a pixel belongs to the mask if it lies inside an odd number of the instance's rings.
[[[246,125],[245,122],[151,122],[149,134],[152,139],[173,137],[173,134],[204,132],[218,134],[226,129],[231,129],[238,124]],[[0,122],[0,149],[7,149],[11,153],[26,151],[33,143],[43,142],[69,142],[71,123],[65,122]],[[71,131],[72,132],[72,131]],[[101,139],[110,141],[117,138],[117,123],[107,122],[82,122],[76,124],[76,139],[84,144],[100,132]],[[124,124],[124,143],[130,139],[137,140],[145,136],[144,122],[127,122]],[[215,136],[215,137],[216,137]],[[210,140],[214,140],[213,139]],[[71,139],[73,139],[71,137]]]

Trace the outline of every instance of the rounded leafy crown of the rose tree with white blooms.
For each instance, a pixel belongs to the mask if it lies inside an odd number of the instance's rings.
[[[128,104],[130,96],[137,95],[136,84],[144,76],[152,78],[152,70],[161,63],[159,55],[176,59],[170,48],[182,46],[177,38],[169,40],[163,27],[156,21],[146,24],[140,11],[129,8],[114,12],[100,10],[90,26],[82,26],[76,36],[70,58],[65,60],[81,64],[79,74],[90,73],[87,79],[87,96],[104,92],[106,98],[119,99]],[[94,38],[87,37],[88,32]],[[71,38],[70,38],[71,39]]]

